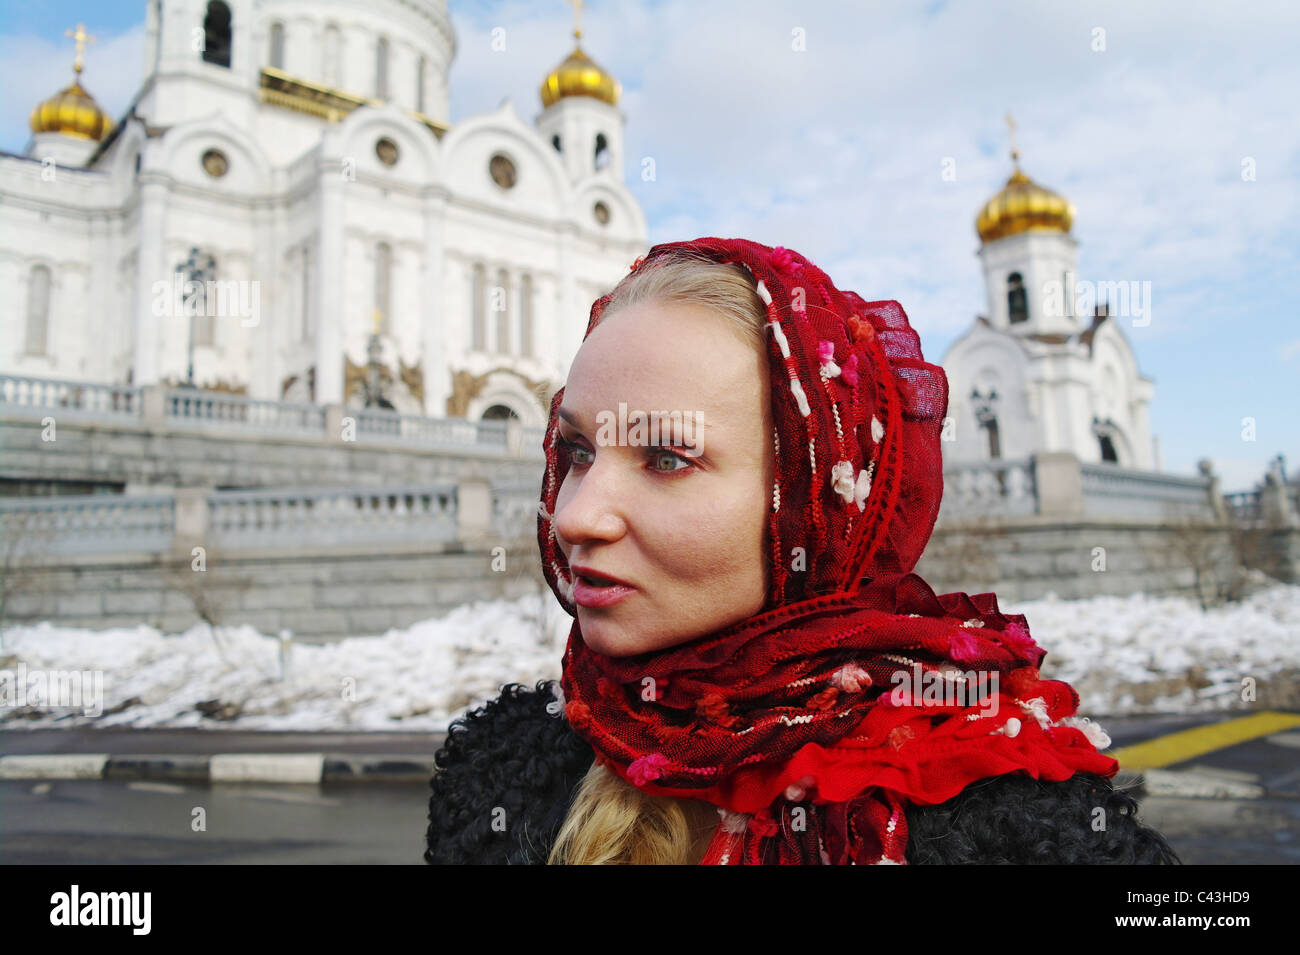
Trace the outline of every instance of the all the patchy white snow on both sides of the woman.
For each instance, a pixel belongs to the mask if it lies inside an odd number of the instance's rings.
[[[1202,612],[1182,598],[1143,594],[1087,600],[1048,596],[1006,604],[1048,651],[1045,677],[1079,690],[1082,715],[1244,707],[1242,681],[1300,674],[1300,586],[1275,585]],[[5,729],[203,726],[242,730],[439,730],[495,696],[503,682],[554,678],[572,618],[550,591],[480,602],[380,637],[294,644],[280,678],[280,641],[250,626],[182,634],[14,626],[4,631],[6,694],[34,670],[101,670],[103,709],[34,715],[0,706]],[[135,700],[126,704],[129,700]],[[1261,696],[1262,699],[1262,696]],[[216,700],[216,703],[209,703]],[[29,700],[39,707],[39,700]],[[225,707],[226,719],[198,709]],[[116,711],[116,712],[114,712]]]

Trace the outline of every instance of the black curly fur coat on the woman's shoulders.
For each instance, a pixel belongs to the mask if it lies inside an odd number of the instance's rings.
[[[547,713],[552,683],[511,683],[455,720],[434,756],[424,859],[436,864],[543,864],[592,765],[590,745]],[[1093,830],[1096,807],[1106,826]],[[940,806],[907,809],[911,864],[1178,864],[1138,800],[1092,773],[1040,782],[980,780]]]

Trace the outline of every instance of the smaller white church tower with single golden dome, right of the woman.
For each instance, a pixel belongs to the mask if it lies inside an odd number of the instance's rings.
[[[975,221],[988,314],[942,359],[956,427],[945,463],[1067,451],[1083,463],[1161,470],[1154,383],[1109,303],[1076,314],[1074,205],[1019,168]]]

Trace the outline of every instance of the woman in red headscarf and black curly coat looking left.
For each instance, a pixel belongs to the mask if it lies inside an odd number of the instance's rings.
[[[911,573],[946,407],[897,303],[650,249],[551,403],[562,681],[452,724],[426,861],[1176,863],[1024,617]]]

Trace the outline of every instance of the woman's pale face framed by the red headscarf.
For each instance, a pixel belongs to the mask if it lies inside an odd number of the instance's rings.
[[[638,438],[637,416],[660,412],[659,434]],[[770,386],[766,360],[725,318],[670,301],[607,312],[573,359],[559,413],[573,446],[559,450],[569,470],[554,528],[571,578],[580,564],[633,587],[611,605],[578,604],[592,650],[671,647],[763,607]]]

